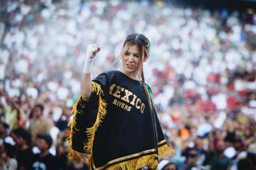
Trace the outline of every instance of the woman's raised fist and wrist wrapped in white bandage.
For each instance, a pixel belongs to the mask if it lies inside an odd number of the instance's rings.
[[[100,51],[98,44],[90,44],[86,50],[86,56],[84,60],[84,73],[90,73],[92,69],[92,61],[96,54]]]

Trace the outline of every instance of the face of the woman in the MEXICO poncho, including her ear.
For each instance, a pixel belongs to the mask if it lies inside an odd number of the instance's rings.
[[[142,58],[145,62],[148,57]],[[122,56],[122,63],[124,72],[130,76],[136,77],[140,69],[140,57],[136,45],[130,47],[126,53]]]

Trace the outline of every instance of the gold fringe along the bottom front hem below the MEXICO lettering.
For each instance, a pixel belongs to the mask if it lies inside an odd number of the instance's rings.
[[[142,156],[137,159],[115,164],[106,168],[106,170],[138,170],[144,166],[148,166],[148,168],[155,170],[158,165],[158,160],[154,159],[155,157],[156,154]]]

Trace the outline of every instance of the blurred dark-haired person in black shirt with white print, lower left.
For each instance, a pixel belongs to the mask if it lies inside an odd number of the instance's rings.
[[[49,152],[52,145],[52,138],[49,134],[37,134],[36,145],[41,151],[35,154],[32,163],[33,170],[58,170],[56,158]]]

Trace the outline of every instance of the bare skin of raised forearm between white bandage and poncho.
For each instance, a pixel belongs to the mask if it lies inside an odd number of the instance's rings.
[[[92,93],[91,73],[83,73],[81,79],[81,95],[84,99],[89,99]]]

